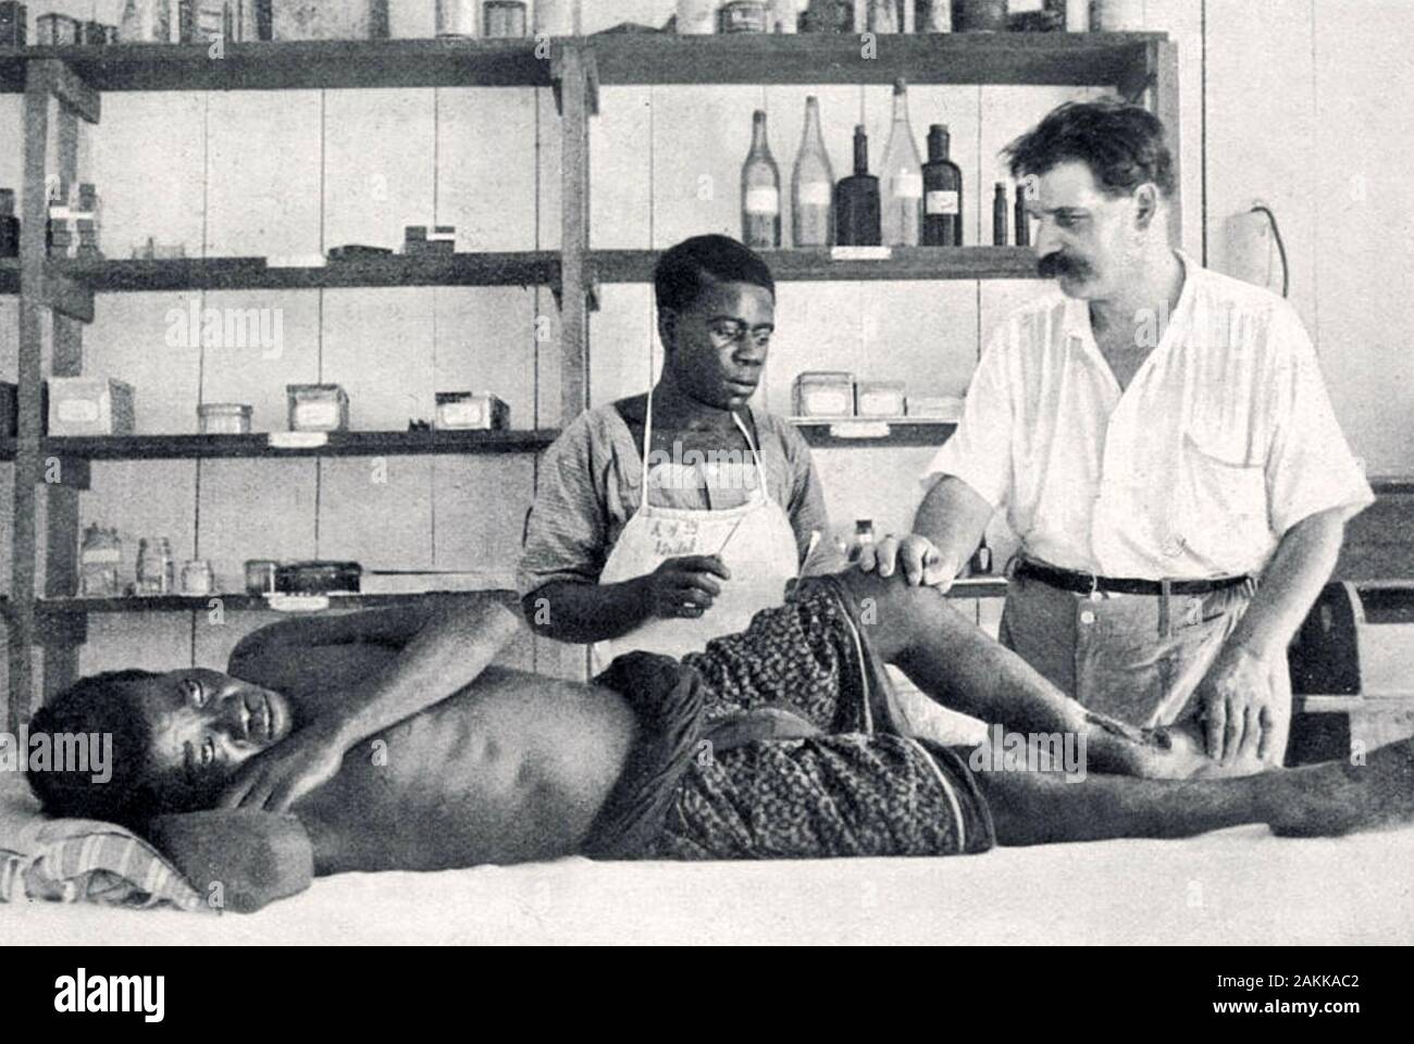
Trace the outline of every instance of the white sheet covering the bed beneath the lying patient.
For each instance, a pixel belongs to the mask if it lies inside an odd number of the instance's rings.
[[[954,859],[345,874],[250,917],[0,905],[0,945],[1410,944],[1414,829],[1240,828]]]

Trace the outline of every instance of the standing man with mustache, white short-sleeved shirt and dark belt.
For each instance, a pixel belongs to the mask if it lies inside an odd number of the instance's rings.
[[[1373,501],[1282,298],[1169,245],[1145,109],[1069,103],[1007,149],[1058,290],[1011,314],[928,468],[918,536],[865,569],[946,587],[1005,509],[1004,644],[1085,706],[1287,743],[1285,649]]]

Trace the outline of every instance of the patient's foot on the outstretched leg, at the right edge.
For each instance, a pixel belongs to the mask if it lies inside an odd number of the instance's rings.
[[[1363,765],[1332,762],[1291,770],[1294,781],[1271,832],[1331,837],[1414,823],[1414,740],[1380,747]]]

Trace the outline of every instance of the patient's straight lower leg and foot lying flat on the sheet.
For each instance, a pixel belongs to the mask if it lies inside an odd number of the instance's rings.
[[[977,772],[1001,845],[1188,837],[1240,823],[1281,835],[1342,835],[1414,822],[1414,740],[1367,764],[1332,761],[1241,779],[1134,779]]]

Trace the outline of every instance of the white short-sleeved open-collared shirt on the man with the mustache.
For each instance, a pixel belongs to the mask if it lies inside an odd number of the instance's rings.
[[[925,481],[1004,506],[1028,555],[1148,580],[1256,574],[1297,522],[1367,506],[1295,310],[1179,257],[1178,307],[1123,393],[1086,301],[1012,313]]]

